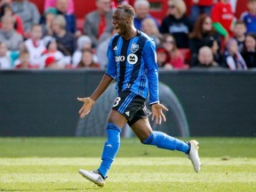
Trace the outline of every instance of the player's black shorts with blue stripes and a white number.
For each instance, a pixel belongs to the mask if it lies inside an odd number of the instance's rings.
[[[125,116],[127,124],[132,126],[140,118],[151,115],[145,104],[146,99],[134,92],[119,92],[112,109]]]

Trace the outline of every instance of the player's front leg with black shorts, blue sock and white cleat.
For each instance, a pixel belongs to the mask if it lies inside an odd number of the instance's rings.
[[[138,110],[136,109],[138,108],[136,106],[139,106],[140,103],[140,99],[138,99],[136,94],[132,92],[120,92],[119,96],[116,97],[108,118],[107,141],[103,148],[101,156],[102,162],[99,169],[93,172],[79,170],[86,179],[91,180],[100,187],[105,185],[108,170],[110,169],[120,146],[121,129],[124,127],[124,124],[136,114]]]

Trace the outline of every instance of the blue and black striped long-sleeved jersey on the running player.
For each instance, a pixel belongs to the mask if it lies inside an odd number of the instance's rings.
[[[116,79],[117,92],[130,91],[147,99],[149,103],[159,101],[156,44],[146,34],[124,40],[115,35],[108,44],[108,66],[106,74]]]

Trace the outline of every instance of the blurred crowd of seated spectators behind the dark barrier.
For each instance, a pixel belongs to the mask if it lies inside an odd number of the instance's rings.
[[[163,19],[135,0],[134,25],[156,42],[159,68],[256,68],[256,0],[236,18],[229,0],[168,0]],[[75,0],[45,0],[40,15],[28,0],[0,1],[0,69],[96,68],[108,64],[112,14],[128,0],[96,0],[77,28]],[[188,13],[189,12],[189,13]]]

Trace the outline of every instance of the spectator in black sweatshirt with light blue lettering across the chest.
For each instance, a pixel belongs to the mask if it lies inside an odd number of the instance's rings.
[[[183,0],[169,0],[168,12],[170,14],[162,21],[160,32],[172,34],[178,48],[188,48],[188,33],[192,30],[192,25],[186,15],[186,4]]]

